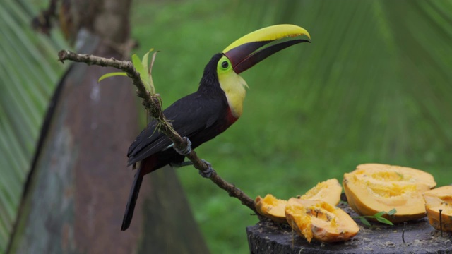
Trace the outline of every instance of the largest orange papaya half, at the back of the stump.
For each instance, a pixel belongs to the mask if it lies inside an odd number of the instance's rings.
[[[391,222],[405,222],[425,216],[422,193],[436,186],[431,174],[419,169],[386,164],[361,164],[344,174],[347,201],[355,212],[371,216],[396,208],[384,215]]]

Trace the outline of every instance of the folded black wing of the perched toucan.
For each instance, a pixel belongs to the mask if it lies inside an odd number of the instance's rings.
[[[194,93],[174,102],[163,111],[163,114],[179,135],[190,138],[218,121],[219,112],[223,107],[225,107],[224,102],[218,99],[210,99]],[[133,141],[127,153],[128,166],[165,150],[172,144],[172,141],[156,128],[157,121],[153,120]]]

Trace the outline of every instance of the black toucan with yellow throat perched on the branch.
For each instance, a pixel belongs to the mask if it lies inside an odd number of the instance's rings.
[[[189,149],[215,138],[242,115],[248,85],[239,74],[281,49],[310,42],[306,37],[311,39],[307,30],[297,25],[272,25],[244,35],[214,54],[204,68],[198,90],[174,102],[163,114],[186,138]],[[133,141],[127,157],[127,166],[133,164],[137,171],[121,231],[130,226],[143,176],[168,164],[180,166],[185,158],[184,152],[175,150],[171,140],[158,131],[155,120]]]

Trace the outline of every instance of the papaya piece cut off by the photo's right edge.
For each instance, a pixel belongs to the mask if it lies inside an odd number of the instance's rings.
[[[422,195],[424,196],[429,223],[435,229],[452,231],[452,186],[439,187],[426,191]],[[441,221],[439,219],[440,209]]]

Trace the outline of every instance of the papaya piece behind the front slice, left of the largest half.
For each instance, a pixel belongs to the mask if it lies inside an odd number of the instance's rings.
[[[307,193],[297,198],[302,200],[323,200],[335,206],[340,201],[340,193],[342,193],[342,186],[338,179],[329,179],[317,183],[314,188],[311,188]]]

